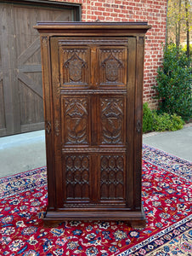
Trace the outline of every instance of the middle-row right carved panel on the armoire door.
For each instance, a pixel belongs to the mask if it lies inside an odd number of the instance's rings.
[[[123,99],[101,98],[101,143],[123,143]]]

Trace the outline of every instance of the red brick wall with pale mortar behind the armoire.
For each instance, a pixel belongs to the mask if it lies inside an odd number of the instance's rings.
[[[166,38],[167,0],[55,0],[82,3],[82,21],[148,21],[144,61],[144,102],[155,108],[152,99],[157,67],[161,65],[162,46]]]

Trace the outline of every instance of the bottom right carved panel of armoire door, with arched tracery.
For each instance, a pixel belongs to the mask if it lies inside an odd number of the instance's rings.
[[[100,199],[123,200],[124,156],[102,155],[100,158]]]

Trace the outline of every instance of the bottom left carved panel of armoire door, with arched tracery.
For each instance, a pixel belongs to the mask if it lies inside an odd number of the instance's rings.
[[[89,156],[65,157],[66,200],[89,199]]]

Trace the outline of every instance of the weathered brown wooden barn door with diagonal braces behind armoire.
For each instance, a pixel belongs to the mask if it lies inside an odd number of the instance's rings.
[[[73,7],[48,2],[0,1],[0,136],[44,128],[40,40],[33,26],[76,20]]]

